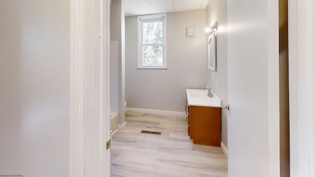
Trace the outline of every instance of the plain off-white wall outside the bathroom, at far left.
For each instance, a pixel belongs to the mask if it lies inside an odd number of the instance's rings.
[[[70,174],[69,4],[0,1],[0,175]]]

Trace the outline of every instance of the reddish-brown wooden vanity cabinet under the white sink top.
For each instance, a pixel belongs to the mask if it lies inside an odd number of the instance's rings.
[[[221,146],[221,108],[188,106],[188,135],[194,144]]]

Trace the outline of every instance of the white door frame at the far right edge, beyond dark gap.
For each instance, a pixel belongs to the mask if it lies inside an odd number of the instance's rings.
[[[314,177],[315,2],[288,3],[290,176]]]

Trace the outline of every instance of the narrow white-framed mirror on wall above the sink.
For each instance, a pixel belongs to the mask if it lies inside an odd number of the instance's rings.
[[[215,71],[217,67],[217,41],[216,34],[212,32],[208,37],[208,68]]]

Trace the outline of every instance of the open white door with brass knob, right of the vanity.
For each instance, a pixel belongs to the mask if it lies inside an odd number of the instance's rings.
[[[227,8],[228,176],[279,177],[278,1]]]

